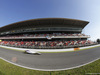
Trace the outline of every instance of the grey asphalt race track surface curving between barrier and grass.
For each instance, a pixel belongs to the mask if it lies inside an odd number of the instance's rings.
[[[41,55],[24,54],[0,48],[0,57],[22,65],[39,70],[60,70],[86,64],[100,58],[100,47],[65,53],[42,53]]]

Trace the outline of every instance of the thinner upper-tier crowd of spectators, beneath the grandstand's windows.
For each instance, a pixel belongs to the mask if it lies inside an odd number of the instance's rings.
[[[74,34],[67,34],[67,33],[51,33],[51,34],[21,34],[21,35],[7,35],[1,36],[1,38],[19,38],[19,37],[57,37],[57,36],[86,36],[84,34],[74,33]]]

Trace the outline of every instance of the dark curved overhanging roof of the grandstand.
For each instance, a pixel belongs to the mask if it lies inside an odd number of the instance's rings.
[[[0,28],[0,32],[17,30],[22,28],[41,28],[41,27],[75,27],[84,28],[89,22],[68,19],[68,18],[40,18],[31,19],[26,21],[20,21],[13,24],[9,24]]]

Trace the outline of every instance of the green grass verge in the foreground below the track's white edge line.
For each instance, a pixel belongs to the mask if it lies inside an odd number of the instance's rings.
[[[0,59],[0,75],[87,75],[87,73],[100,73],[100,59],[80,68],[64,71],[30,70]]]

